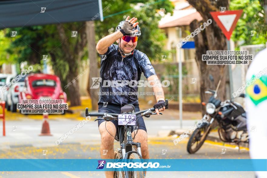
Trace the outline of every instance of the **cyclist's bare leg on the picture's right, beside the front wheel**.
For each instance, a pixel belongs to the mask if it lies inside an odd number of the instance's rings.
[[[132,133],[132,137],[134,138],[134,134],[136,131]],[[143,159],[149,159],[149,152],[148,152],[148,143],[147,143],[147,132],[144,130],[138,130],[137,134],[135,135],[135,138],[133,140],[134,142],[141,143],[141,153]],[[147,171],[145,171],[145,174]]]

